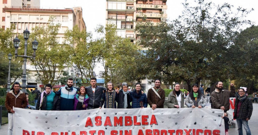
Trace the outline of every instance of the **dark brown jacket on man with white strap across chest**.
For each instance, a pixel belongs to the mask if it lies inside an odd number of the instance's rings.
[[[165,91],[162,88],[160,88],[158,90],[158,94],[161,97],[161,99],[156,95],[156,93],[152,89],[148,90],[147,101],[150,107],[152,104],[156,104],[157,108],[164,108]]]

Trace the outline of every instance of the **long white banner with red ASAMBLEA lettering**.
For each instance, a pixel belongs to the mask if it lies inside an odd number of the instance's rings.
[[[220,109],[91,109],[39,111],[14,108],[15,135],[222,135]]]

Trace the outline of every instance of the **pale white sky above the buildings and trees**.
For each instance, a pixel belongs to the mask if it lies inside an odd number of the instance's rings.
[[[181,14],[183,10],[182,2],[184,2],[184,0],[167,0],[168,19],[176,19],[178,15]],[[239,6],[245,9],[253,8],[254,11],[248,15],[247,19],[256,22],[257,25],[258,4],[256,0],[213,0],[213,2],[215,4],[227,2],[234,6],[233,9]],[[98,24],[105,25],[106,23],[106,0],[41,0],[40,5],[41,8],[44,9],[64,9],[81,6],[87,32],[93,32]]]

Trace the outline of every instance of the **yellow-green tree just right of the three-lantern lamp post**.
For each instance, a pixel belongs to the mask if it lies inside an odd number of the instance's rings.
[[[31,40],[36,39],[39,43],[36,51],[36,59],[31,64],[37,72],[37,80],[43,84],[55,84],[62,75],[64,68],[70,66],[71,46],[60,44],[56,40],[60,24],[53,23],[51,16],[47,27],[36,27],[31,33]],[[28,42],[30,43],[30,42]],[[29,49],[29,51],[32,51]]]

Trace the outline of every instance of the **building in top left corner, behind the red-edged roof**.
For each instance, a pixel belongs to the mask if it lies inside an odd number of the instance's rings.
[[[16,8],[40,8],[40,0],[0,0],[0,26],[5,29],[5,11],[4,8],[16,7]]]

